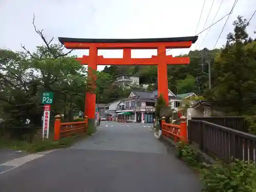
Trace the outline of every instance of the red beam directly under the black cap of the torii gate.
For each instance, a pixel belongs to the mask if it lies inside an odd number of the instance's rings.
[[[174,42],[63,42],[67,49],[157,49],[165,47],[166,49],[190,48],[192,41],[174,41]]]

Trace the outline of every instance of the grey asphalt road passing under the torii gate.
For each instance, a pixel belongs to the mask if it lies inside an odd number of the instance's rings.
[[[13,168],[0,170],[1,191],[200,191],[199,178],[153,133],[148,124],[101,122],[70,148],[5,163]]]

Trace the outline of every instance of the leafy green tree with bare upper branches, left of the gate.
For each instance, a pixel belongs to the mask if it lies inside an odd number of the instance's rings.
[[[84,100],[87,87],[87,72],[75,60],[63,53],[63,46],[52,44],[38,30],[35,32],[45,42],[38,46],[34,53],[22,45],[24,52],[0,50],[0,101],[7,125],[24,126],[27,119],[29,125],[41,126],[42,105],[41,95],[44,91],[54,93],[51,110],[73,117],[73,111],[80,110],[77,105]],[[67,115],[66,115],[67,114]]]

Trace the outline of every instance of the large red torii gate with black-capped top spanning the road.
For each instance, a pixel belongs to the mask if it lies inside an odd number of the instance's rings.
[[[167,65],[187,65],[189,57],[173,57],[166,55],[166,49],[190,48],[198,36],[173,38],[142,38],[142,39],[84,39],[84,38],[58,38],[67,49],[89,49],[89,56],[77,58],[81,65],[88,65],[90,70],[97,70],[97,65],[157,65],[158,66],[158,96],[162,94],[168,102]],[[98,49],[123,49],[123,58],[104,58],[98,56]],[[132,49],[157,49],[157,56],[152,58],[131,58]],[[86,93],[85,114],[89,124],[94,124],[96,96]]]

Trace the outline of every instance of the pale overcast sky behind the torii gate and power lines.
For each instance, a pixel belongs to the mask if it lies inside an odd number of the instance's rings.
[[[222,0],[215,0],[205,28],[214,18]],[[32,26],[33,13],[38,29],[54,42],[57,37],[78,38],[151,38],[193,36],[199,21],[204,0],[0,0],[0,48],[20,51],[20,44],[30,51],[42,45],[42,40]],[[234,0],[224,0],[216,21],[227,14]],[[203,30],[212,0],[206,0],[198,32]],[[256,1],[239,0],[216,47],[225,44],[232,22],[238,15],[249,19],[256,9]],[[212,27],[202,43],[204,35],[191,49],[211,49],[221,32],[226,19]],[[255,37],[256,15],[251,20],[248,32]],[[189,49],[171,50],[168,54],[187,53]],[[77,50],[74,54],[88,54]],[[135,50],[132,57],[146,58],[156,50]],[[104,57],[122,57],[121,50],[100,50]],[[104,67],[98,67],[102,70]]]

